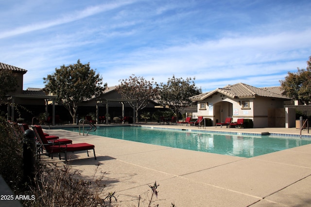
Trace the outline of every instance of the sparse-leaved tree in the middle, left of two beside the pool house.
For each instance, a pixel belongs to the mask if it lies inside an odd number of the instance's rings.
[[[136,111],[136,120],[138,120],[138,111],[145,108],[150,100],[157,97],[158,85],[154,79],[145,80],[143,77],[136,77],[134,74],[128,79],[119,80],[120,85],[117,91],[124,99],[136,99],[137,103],[129,102],[130,106]]]

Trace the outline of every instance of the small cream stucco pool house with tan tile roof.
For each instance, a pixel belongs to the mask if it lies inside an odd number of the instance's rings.
[[[204,116],[215,123],[232,117],[252,119],[254,127],[284,127],[284,101],[291,98],[283,95],[277,87],[257,88],[244,83],[227,85],[213,91],[192,96],[197,102],[196,116]]]

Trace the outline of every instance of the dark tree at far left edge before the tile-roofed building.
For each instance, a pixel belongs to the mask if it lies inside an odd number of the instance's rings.
[[[4,101],[6,95],[16,90],[16,75],[9,69],[0,69],[0,103]]]

